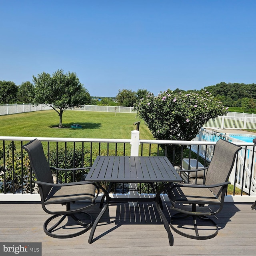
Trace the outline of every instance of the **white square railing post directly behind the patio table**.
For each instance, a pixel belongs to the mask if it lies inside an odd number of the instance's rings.
[[[140,132],[137,130],[132,131],[131,140],[131,156],[139,156]],[[130,183],[129,197],[138,198],[138,186],[136,183]],[[137,206],[137,202],[130,202],[130,206]]]

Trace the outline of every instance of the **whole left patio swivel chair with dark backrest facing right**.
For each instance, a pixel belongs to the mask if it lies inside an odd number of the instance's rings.
[[[95,204],[95,199],[99,193],[97,185],[92,182],[83,181],[54,184],[51,171],[51,169],[63,171],[88,168],[61,169],[50,167],[44,155],[42,143],[38,139],[30,141],[23,148],[28,152],[30,165],[37,179],[35,182],[38,184],[42,208],[48,214],[52,214],[44,222],[44,232],[54,238],[71,238],[88,231],[92,227],[93,218],[87,212],[82,212],[82,210]],[[82,204],[82,207],[80,206],[80,208],[71,210],[70,203],[79,200],[89,200],[91,204],[87,204],[86,206]],[[49,210],[50,207],[53,208],[53,206],[49,207],[50,204],[66,205],[66,209],[56,210],[59,207],[54,205],[55,210]],[[66,225],[61,226],[65,219],[67,220]],[[48,228],[50,222],[53,226]],[[73,223],[73,226],[76,223],[78,227],[75,226],[73,228],[75,232],[72,234],[66,234],[67,230],[68,232],[71,230],[71,223]],[[77,232],[77,230],[79,231]]]

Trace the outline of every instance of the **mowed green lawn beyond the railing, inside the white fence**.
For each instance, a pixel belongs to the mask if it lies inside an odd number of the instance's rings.
[[[0,116],[0,136],[61,137],[61,138],[116,138],[130,139],[136,130],[134,122],[140,123],[140,138],[153,139],[143,120],[135,113],[112,113],[93,111],[64,112],[62,124],[67,128],[56,128],[59,116],[54,110],[44,110]],[[72,129],[72,124],[82,129]]]

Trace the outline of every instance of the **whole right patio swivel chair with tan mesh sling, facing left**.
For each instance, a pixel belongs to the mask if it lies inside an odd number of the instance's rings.
[[[204,184],[173,183],[168,187],[167,193],[172,204],[171,209],[178,212],[171,217],[170,222],[170,226],[175,232],[182,236],[198,240],[213,238],[218,234],[218,225],[212,218],[208,218],[207,216],[215,215],[223,208],[224,197],[228,184],[230,184],[228,178],[240,149],[240,146],[231,142],[222,139],[218,140],[210,165],[206,168],[193,170],[207,169]],[[211,210],[210,206],[214,210]],[[192,222],[189,222],[189,228],[185,228],[184,226],[188,223],[184,223],[185,221],[182,219],[190,216],[193,218],[194,226],[192,225],[191,228],[190,224]],[[181,224],[174,224],[178,219]],[[207,230],[210,234],[206,234],[206,228],[202,225],[204,227],[202,229],[204,234],[199,235],[198,219],[200,219],[200,222],[210,224],[211,228]],[[204,220],[207,222],[204,222]],[[212,226],[214,227],[214,233],[212,233]],[[191,232],[191,230],[194,231]]]

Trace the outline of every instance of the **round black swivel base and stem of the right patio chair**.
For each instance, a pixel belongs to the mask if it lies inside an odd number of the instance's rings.
[[[196,205],[192,205],[192,212],[196,212]],[[192,234],[187,234],[185,232],[181,231],[181,228],[176,228],[173,226],[173,220],[175,219],[184,219],[184,218],[188,218],[188,217],[192,217],[193,218],[193,229],[195,231],[195,235]],[[199,231],[198,231],[198,222],[197,219],[200,220],[204,220],[206,222],[210,222],[212,224],[213,227],[215,227],[215,232],[207,235],[207,236],[200,236]],[[205,239],[210,239],[213,238],[215,236],[217,236],[218,234],[218,225],[210,218],[208,218],[207,216],[198,216],[198,215],[188,215],[188,214],[183,214],[183,213],[176,213],[174,214],[174,216],[172,216],[171,221],[170,221],[170,226],[172,228],[172,230],[174,230],[176,233],[180,234],[181,236],[185,236],[187,238],[191,238],[191,239],[197,239],[197,240],[205,240]]]

